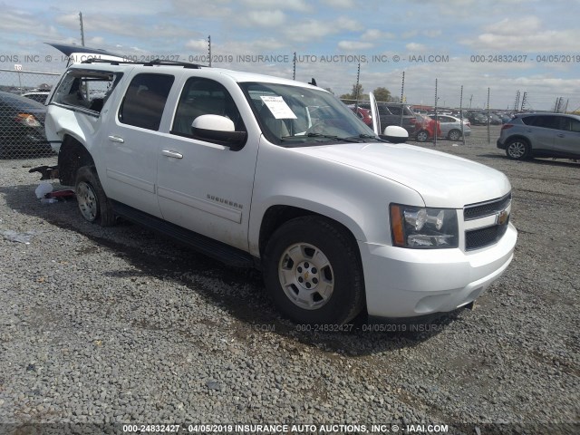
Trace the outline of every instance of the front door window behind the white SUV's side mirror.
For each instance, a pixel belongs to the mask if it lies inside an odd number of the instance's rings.
[[[192,136],[191,124],[201,115],[225,116],[234,122],[235,131],[246,131],[236,103],[221,83],[191,77],[179,97],[171,133]]]

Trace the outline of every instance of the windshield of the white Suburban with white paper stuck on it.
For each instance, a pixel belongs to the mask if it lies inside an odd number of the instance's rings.
[[[297,147],[376,140],[374,132],[330,92],[279,83],[239,85],[272,143]]]

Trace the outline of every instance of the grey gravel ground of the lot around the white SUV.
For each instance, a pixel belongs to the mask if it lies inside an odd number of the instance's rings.
[[[466,146],[437,148],[507,174],[514,261],[474,310],[388,333],[301,331],[256,271],[142,227],[90,225],[75,201],[41,204],[28,168],[53,159],[0,160],[0,432],[131,422],[578,433],[580,163],[507,160],[498,128],[491,144],[473,131]],[[320,428],[330,424],[354,426]]]

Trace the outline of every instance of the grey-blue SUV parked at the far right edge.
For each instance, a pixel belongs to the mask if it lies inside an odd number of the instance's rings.
[[[507,157],[580,158],[580,116],[563,113],[517,115],[501,128],[497,142]]]

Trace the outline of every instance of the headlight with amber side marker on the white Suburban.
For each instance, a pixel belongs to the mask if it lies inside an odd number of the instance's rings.
[[[391,204],[391,235],[395,247],[416,249],[458,247],[457,212],[451,208],[420,208]]]

